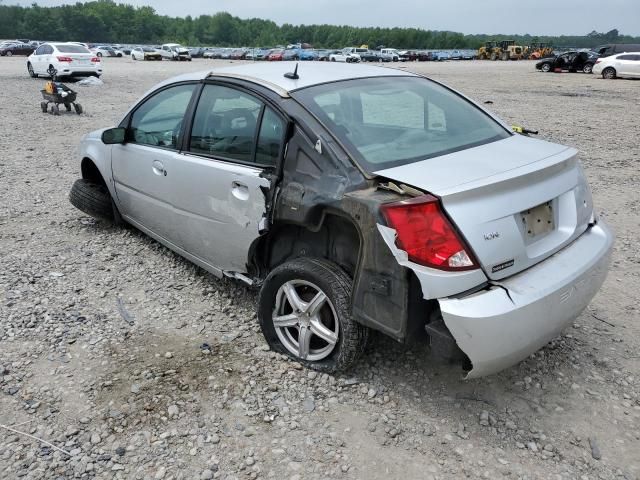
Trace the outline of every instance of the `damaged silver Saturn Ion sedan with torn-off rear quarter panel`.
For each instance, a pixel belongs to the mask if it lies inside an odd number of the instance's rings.
[[[270,347],[321,371],[352,365],[373,329],[428,339],[468,377],[497,372],[557,336],[608,270],[576,150],[401,70],[186,74],[80,152],[73,205],[259,287]]]

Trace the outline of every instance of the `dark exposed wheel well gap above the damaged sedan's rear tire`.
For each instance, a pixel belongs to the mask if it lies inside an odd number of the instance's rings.
[[[253,249],[253,266],[264,278],[278,265],[298,257],[324,258],[354,278],[360,259],[361,236],[347,217],[325,214],[318,227],[289,223],[272,226]]]

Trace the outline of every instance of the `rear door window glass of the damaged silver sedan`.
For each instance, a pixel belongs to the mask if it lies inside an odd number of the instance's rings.
[[[205,85],[191,130],[190,149],[214,157],[254,162],[262,102],[221,85]]]

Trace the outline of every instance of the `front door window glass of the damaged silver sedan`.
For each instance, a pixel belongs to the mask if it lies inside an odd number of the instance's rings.
[[[147,99],[131,116],[128,140],[177,150],[182,121],[194,88],[193,84],[176,85]]]

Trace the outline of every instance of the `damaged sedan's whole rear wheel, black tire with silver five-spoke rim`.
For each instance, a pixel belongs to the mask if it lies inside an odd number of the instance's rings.
[[[274,269],[258,299],[258,320],[271,349],[322,372],[352,366],[369,329],[351,317],[351,285],[338,265],[324,259],[297,258]],[[314,301],[319,305],[309,315]],[[301,347],[303,333],[307,341]]]

